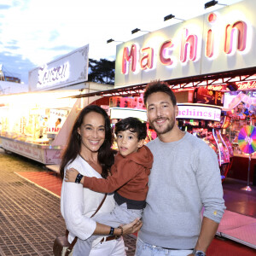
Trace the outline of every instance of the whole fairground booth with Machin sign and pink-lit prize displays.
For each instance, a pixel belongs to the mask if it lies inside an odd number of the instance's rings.
[[[165,81],[177,96],[178,126],[215,150],[223,181],[256,183],[255,10],[255,1],[241,1],[118,44],[114,89],[75,97],[108,98],[113,125],[127,116],[146,120],[143,90]]]

